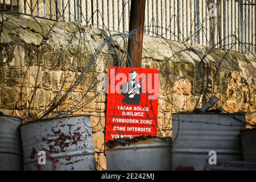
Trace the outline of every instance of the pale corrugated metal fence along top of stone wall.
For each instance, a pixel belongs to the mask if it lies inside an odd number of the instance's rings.
[[[126,33],[130,0],[0,0],[1,11]],[[256,52],[256,0],[146,0],[144,31],[165,39]]]

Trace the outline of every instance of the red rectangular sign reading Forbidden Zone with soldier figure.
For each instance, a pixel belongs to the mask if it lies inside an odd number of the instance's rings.
[[[157,136],[159,70],[109,67],[106,142]]]

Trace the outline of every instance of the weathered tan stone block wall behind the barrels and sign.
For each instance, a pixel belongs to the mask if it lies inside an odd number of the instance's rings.
[[[106,94],[97,76],[125,66],[127,35],[17,15],[3,15],[0,28],[0,110],[23,122],[90,115],[97,169],[106,169]],[[256,122],[255,55],[144,36],[142,57],[143,68],[160,69],[159,137],[172,137],[172,113],[213,95],[214,108]]]

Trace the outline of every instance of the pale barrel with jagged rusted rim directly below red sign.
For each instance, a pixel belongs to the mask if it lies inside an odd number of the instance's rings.
[[[171,139],[151,138],[106,148],[107,169],[168,171],[172,169]]]

